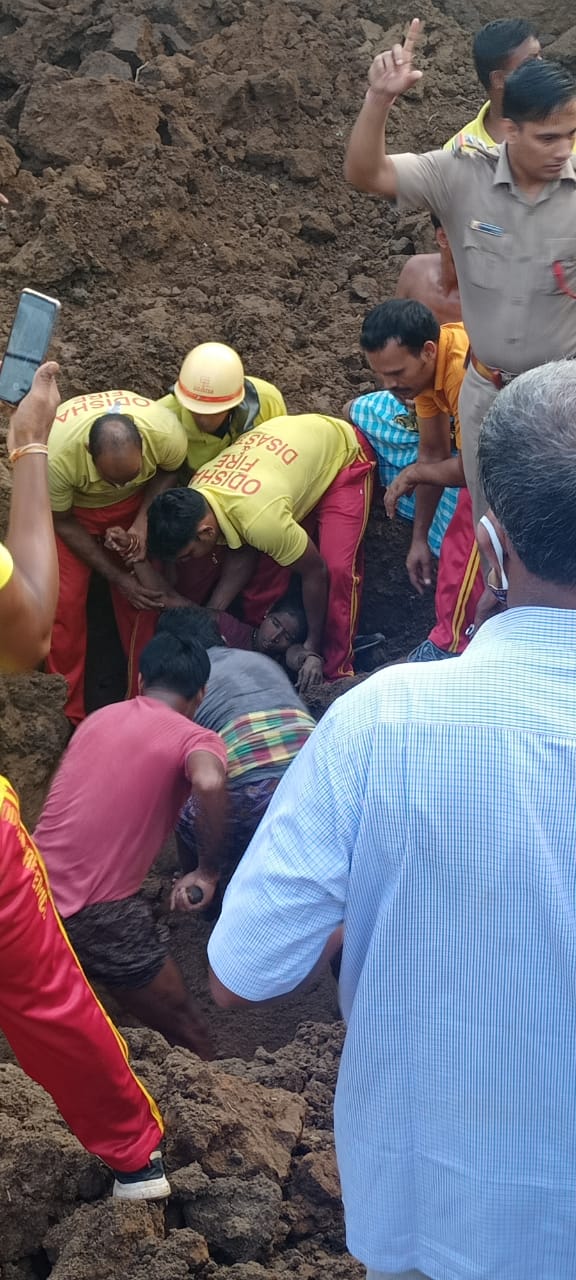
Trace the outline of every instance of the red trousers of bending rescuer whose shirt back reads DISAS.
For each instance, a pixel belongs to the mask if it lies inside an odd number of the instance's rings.
[[[326,562],[330,585],[323,654],[325,680],[353,676],[352,648],[358,628],[364,577],[364,535],[370,515],[375,453],[356,431],[362,453],[344,467],[326,489],[310,516],[302,521],[308,536]],[[291,568],[282,568],[262,556],[256,573],[243,593],[243,616],[256,626],[266,609],[287,590]]]

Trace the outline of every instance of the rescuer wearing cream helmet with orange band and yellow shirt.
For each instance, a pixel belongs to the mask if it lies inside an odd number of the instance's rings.
[[[202,342],[189,351],[170,394],[159,404],[184,428],[191,471],[211,462],[252,426],[287,412],[278,387],[246,378],[238,353],[223,342]]]

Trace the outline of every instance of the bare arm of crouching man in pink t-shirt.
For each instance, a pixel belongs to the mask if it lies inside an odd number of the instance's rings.
[[[198,833],[198,867],[177,882],[172,893],[172,908],[193,911],[207,906],[220,878],[220,858],[227,823],[227,771],[212,751],[191,751],[186,762],[192,795],[196,801]],[[201,890],[196,904],[189,901],[188,890]]]

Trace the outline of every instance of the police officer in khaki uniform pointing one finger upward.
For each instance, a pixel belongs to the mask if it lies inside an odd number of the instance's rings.
[[[419,35],[374,60],[355,124],[346,177],[401,209],[436,214],[456,262],[470,364],[462,385],[462,460],[477,521],[481,421],[500,387],[549,360],[576,356],[576,81],[556,63],[531,60],[506,82],[507,142],[456,152],[389,156],[385,125],[394,99],[421,78]]]

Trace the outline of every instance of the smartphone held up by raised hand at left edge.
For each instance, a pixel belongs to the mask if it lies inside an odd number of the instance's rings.
[[[20,293],[6,353],[0,369],[0,401],[19,404],[46,357],[60,310],[55,298],[24,289]]]

